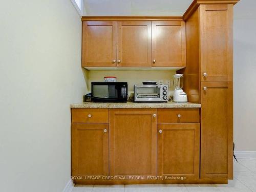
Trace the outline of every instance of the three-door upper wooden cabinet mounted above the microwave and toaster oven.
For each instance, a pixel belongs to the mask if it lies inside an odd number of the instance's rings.
[[[82,67],[185,67],[185,22],[82,22]]]

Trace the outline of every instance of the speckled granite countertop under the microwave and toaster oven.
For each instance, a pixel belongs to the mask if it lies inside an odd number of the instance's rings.
[[[126,103],[98,103],[82,102],[71,104],[70,108],[201,108],[198,103],[169,102],[126,102]]]

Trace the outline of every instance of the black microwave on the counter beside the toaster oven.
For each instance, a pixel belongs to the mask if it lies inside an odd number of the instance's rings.
[[[92,82],[93,102],[127,102],[127,82]]]

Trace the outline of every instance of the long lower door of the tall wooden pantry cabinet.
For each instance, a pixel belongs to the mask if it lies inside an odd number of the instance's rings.
[[[232,178],[232,82],[201,86],[201,177]]]

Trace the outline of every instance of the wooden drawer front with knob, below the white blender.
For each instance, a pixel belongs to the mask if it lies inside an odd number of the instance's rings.
[[[180,117],[178,117],[180,115]],[[157,109],[157,123],[200,122],[198,108]]]

